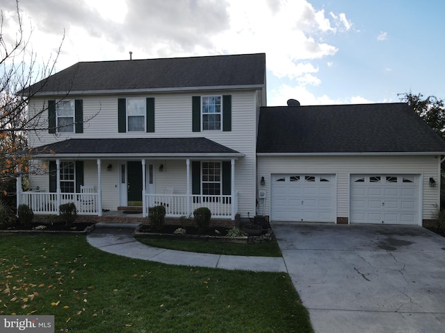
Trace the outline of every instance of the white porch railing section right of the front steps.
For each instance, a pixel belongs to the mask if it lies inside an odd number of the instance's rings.
[[[145,202],[148,208],[158,205],[165,207],[165,216],[180,217],[190,216],[200,207],[207,207],[214,218],[234,219],[238,212],[238,192],[233,196],[202,196],[186,194],[146,194]],[[189,203],[189,205],[187,205]],[[233,208],[233,210],[232,210]]]

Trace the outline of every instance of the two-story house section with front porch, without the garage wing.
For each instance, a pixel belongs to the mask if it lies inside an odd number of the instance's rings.
[[[209,207],[234,220],[256,209],[256,139],[266,55],[79,62],[30,87],[44,110],[34,148],[35,214],[74,202],[79,214],[164,205]]]

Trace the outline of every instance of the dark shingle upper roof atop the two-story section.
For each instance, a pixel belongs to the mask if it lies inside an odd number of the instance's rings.
[[[22,94],[265,84],[266,54],[78,62]]]

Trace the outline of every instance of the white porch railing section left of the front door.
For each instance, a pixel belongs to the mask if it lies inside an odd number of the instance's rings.
[[[28,205],[34,214],[58,214],[58,207],[63,203],[74,203],[77,214],[99,214],[99,194],[97,193],[56,193],[26,191],[19,194],[20,203]]]

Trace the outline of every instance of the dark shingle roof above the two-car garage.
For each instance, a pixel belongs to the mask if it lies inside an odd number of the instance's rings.
[[[257,153],[445,152],[406,103],[264,107]]]

